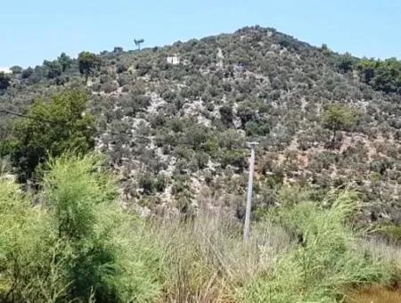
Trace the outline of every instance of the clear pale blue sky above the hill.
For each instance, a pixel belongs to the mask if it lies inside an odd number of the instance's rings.
[[[273,27],[340,53],[401,58],[398,0],[3,0],[0,67],[41,64],[61,52],[101,52]]]

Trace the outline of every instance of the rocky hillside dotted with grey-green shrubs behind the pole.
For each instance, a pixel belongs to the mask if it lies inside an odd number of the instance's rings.
[[[401,224],[399,79],[388,85],[370,66],[356,68],[370,61],[259,27],[99,58],[86,85],[78,61],[63,56],[12,69],[0,109],[24,112],[38,97],[86,87],[102,131],[96,149],[143,213],[207,208],[241,218],[246,142],[257,140],[256,214],[279,205],[288,184],[316,201],[348,186],[364,194],[360,222]],[[356,118],[334,139],[324,123],[332,104]],[[1,115],[6,140],[14,117]]]

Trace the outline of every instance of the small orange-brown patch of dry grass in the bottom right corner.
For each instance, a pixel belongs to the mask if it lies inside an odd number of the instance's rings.
[[[400,303],[401,291],[384,286],[365,287],[349,295],[347,303]]]

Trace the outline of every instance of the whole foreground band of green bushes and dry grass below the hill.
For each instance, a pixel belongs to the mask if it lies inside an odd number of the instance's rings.
[[[35,195],[0,177],[0,301],[337,302],[397,278],[399,262],[347,224],[355,192],[320,207],[282,193],[244,244],[241,223],[209,209],[146,221],[123,210],[103,162],[51,159]]]

